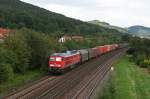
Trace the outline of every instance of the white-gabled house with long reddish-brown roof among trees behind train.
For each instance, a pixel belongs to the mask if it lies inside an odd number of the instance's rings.
[[[84,38],[82,36],[63,36],[58,41],[64,43],[68,40],[82,41]]]

